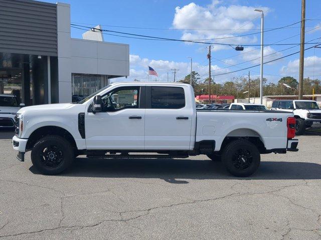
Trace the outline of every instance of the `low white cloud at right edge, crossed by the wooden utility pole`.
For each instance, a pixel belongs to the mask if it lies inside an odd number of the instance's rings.
[[[299,59],[289,61],[286,66],[282,66],[280,69],[281,75],[298,76],[299,74]],[[314,75],[319,76],[321,74],[321,57],[318,56],[307,56],[304,57],[304,76],[313,76],[313,65]]]

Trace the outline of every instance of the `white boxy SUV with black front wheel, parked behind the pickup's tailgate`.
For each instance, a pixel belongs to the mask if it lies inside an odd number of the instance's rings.
[[[313,100],[274,100],[271,110],[293,112],[296,134],[304,134],[306,128],[321,123],[321,109]]]

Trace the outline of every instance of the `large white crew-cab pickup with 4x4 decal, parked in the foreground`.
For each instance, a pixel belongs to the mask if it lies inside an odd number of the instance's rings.
[[[297,151],[291,112],[196,110],[183,83],[121,82],[78,103],[21,108],[13,147],[42,173],[57,174],[80,154],[104,158],[222,159],[236,176],[249,176],[260,153]],[[134,152],[134,154],[132,154]],[[140,153],[138,153],[140,152]],[[130,154],[131,153],[131,154]]]

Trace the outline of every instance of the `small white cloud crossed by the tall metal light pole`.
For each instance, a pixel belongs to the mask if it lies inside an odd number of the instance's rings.
[[[264,62],[274,60],[282,56],[281,52],[277,52],[271,46],[265,46],[263,48]],[[254,64],[259,64],[261,60],[261,49],[259,47],[244,47],[244,54],[242,54],[242,59],[245,61],[251,61]],[[276,63],[277,61],[270,62],[268,64]]]

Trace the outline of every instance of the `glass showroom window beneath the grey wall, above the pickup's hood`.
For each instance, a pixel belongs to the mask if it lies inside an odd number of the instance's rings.
[[[72,95],[88,96],[106,85],[107,75],[72,73]]]

